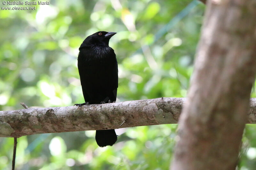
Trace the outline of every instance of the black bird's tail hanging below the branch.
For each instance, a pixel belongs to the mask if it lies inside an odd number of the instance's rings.
[[[95,139],[100,147],[112,146],[117,140],[115,129],[96,130]]]

